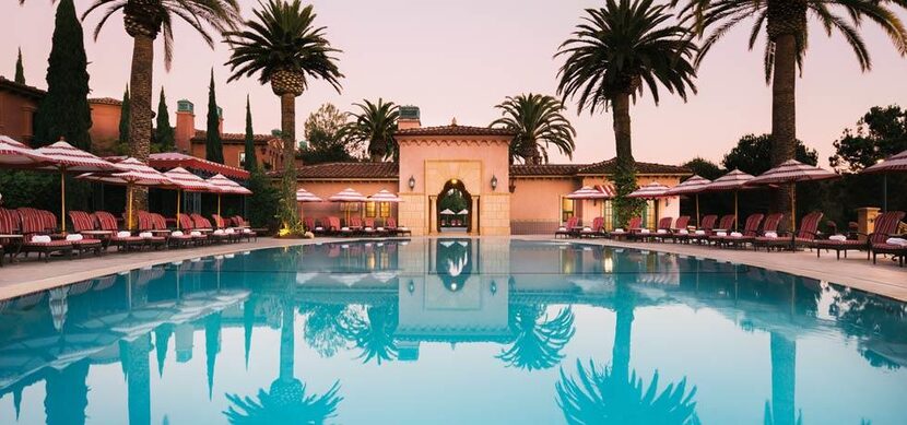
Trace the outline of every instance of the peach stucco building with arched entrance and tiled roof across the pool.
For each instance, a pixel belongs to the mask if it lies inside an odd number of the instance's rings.
[[[594,164],[510,165],[513,134],[502,129],[459,126],[422,127],[417,107],[400,110],[399,163],[334,163],[302,166],[298,185],[327,199],[351,187],[363,194],[381,189],[397,192],[403,202],[398,211],[382,213],[366,206],[367,217],[397,217],[414,235],[438,234],[444,223],[438,208],[451,189],[470,203],[462,220],[471,234],[509,235],[554,232],[569,216],[590,224],[596,216],[611,228],[610,201],[572,201],[566,194],[582,186],[608,186],[614,175],[614,160]],[[674,186],[688,169],[661,164],[637,163],[639,185],[657,180]],[[279,172],[274,174],[274,177]],[[343,216],[338,204],[305,203],[304,215]],[[650,202],[644,212],[649,226],[660,216],[678,216],[676,198]]]

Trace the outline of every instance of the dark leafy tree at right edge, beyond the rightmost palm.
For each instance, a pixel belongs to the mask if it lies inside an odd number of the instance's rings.
[[[828,158],[841,172],[859,172],[887,156],[907,151],[907,109],[873,106],[856,129],[845,129]]]

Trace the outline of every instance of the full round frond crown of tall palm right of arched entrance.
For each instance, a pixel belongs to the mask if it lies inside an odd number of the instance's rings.
[[[656,104],[658,86],[686,99],[696,92],[692,58],[698,51],[688,29],[674,24],[668,4],[651,0],[608,0],[587,9],[573,37],[561,45],[565,57],[557,93],[574,98],[577,109],[606,109],[619,94],[633,98],[648,87]]]

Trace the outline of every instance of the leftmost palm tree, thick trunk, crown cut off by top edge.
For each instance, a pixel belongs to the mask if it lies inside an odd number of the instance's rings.
[[[120,10],[126,33],[132,37],[129,155],[146,161],[152,140],[151,119],[154,117],[151,109],[154,40],[158,34],[164,34],[164,64],[169,70],[173,64],[174,21],[179,19],[188,23],[213,48],[214,38],[207,26],[222,34],[234,28],[240,21],[239,5],[236,0],[95,0],[82,14],[82,20],[102,8],[103,16],[94,29],[95,40],[107,20]]]

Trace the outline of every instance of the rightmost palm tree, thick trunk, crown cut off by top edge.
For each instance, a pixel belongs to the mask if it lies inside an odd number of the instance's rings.
[[[678,2],[679,0],[674,0]],[[863,20],[875,22],[902,56],[907,55],[907,28],[891,5],[907,8],[904,0],[688,0],[683,19],[702,36],[710,28],[696,57],[705,55],[733,27],[752,22],[750,49],[764,33],[765,82],[771,84],[771,165],[792,160],[797,147],[797,71],[802,72],[808,47],[808,16],[814,16],[829,36],[837,31],[857,56],[862,71],[872,69],[869,51],[859,33]],[[837,11],[835,10],[837,9]],[[849,16],[849,20],[846,17]],[[750,20],[752,17],[752,20]],[[786,191],[777,190],[773,206],[789,209]]]

